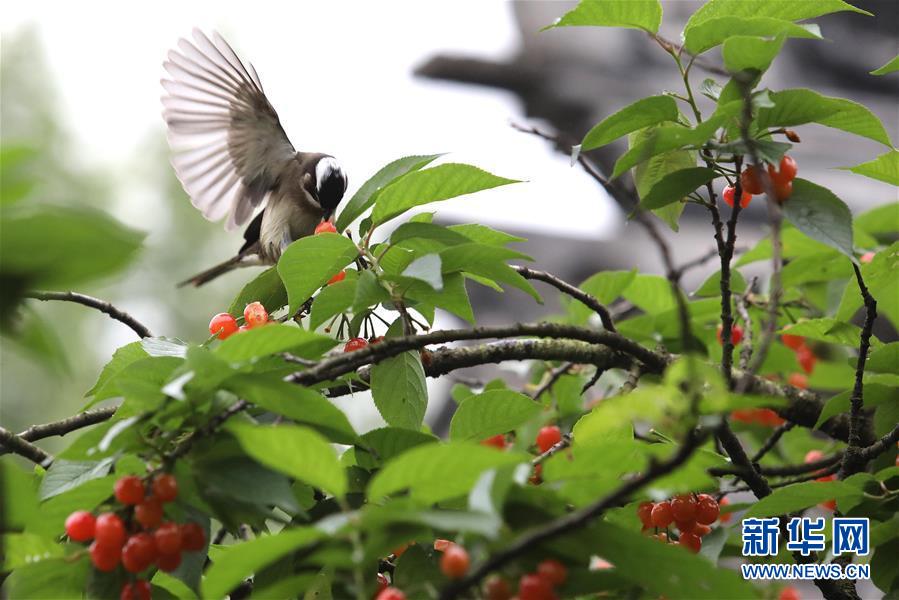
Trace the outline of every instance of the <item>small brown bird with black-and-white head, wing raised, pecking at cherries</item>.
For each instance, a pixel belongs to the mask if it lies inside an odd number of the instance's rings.
[[[163,62],[171,163],[206,219],[225,219],[228,231],[249,225],[236,255],[179,287],[201,286],[239,267],[276,264],[293,241],[333,218],[347,189],[334,156],[297,151],[290,143],[251,63],[217,32],[210,37],[194,29],[192,38],[180,39]]]

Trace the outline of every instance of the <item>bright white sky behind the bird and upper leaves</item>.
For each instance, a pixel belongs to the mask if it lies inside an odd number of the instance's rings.
[[[122,173],[119,216],[138,227],[152,228],[148,196],[129,189],[126,171],[147,136],[162,135],[161,64],[195,26],[217,29],[253,63],[294,145],[337,156],[350,193],[394,158],[448,152],[444,160],[527,183],[439,205],[447,218],[590,239],[608,235],[619,219],[566,158],[508,127],[521,120],[510,95],[412,76],[439,51],[513,53],[518,32],[505,2],[4,5],[3,33],[32,23],[81,159]]]

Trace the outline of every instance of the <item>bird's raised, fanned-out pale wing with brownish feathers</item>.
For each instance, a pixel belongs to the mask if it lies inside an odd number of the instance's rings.
[[[296,151],[246,66],[217,33],[195,29],[163,64],[163,116],[172,165],[195,207],[226,229],[243,225]]]

